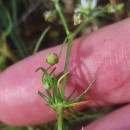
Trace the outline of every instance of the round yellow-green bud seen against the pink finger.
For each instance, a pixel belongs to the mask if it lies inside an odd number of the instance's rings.
[[[59,57],[56,53],[49,53],[46,57],[46,62],[50,65],[57,64],[59,62]]]

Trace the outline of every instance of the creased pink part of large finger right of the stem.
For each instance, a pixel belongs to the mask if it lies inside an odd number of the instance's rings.
[[[129,22],[105,27],[73,44],[69,80],[82,92],[97,78],[87,94],[93,105],[130,102]]]

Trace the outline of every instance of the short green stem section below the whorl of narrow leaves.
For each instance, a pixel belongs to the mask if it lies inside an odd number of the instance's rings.
[[[57,129],[62,130],[62,106],[57,107]]]

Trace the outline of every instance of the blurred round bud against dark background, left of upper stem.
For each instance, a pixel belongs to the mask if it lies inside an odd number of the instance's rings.
[[[55,11],[45,11],[44,12],[44,18],[48,22],[53,22],[56,18],[56,12]]]

